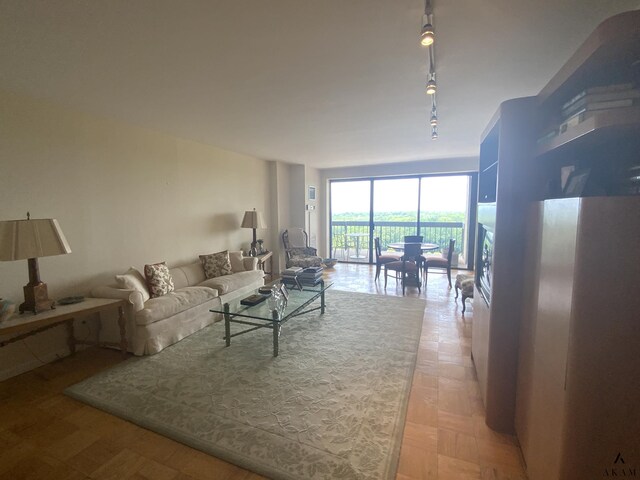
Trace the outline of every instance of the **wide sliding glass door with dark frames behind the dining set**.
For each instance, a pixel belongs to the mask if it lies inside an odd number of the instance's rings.
[[[473,252],[468,250],[471,196],[475,177],[420,175],[330,183],[331,254],[342,262],[375,262],[373,239],[382,249],[406,235],[421,235],[435,243],[441,254],[455,240],[453,263],[466,268]],[[475,202],[473,202],[475,204]]]

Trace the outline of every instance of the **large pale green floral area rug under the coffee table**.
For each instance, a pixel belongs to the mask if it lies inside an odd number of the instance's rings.
[[[425,302],[329,290],[327,309],[234,337],[224,322],[66,393],[274,479],[393,479]],[[241,328],[232,324],[232,333]]]

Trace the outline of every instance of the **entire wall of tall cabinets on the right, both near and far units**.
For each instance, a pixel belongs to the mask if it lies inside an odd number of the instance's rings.
[[[492,212],[495,230],[493,255],[476,250],[472,353],[487,424],[515,430],[530,480],[640,475],[640,101],[566,115],[612,85],[640,88],[640,11],[604,21],[482,140],[479,237]]]

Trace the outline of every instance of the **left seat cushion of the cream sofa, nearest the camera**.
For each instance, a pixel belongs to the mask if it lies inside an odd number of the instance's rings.
[[[149,325],[200,305],[217,296],[218,292],[208,287],[181,288],[145,302],[144,308],[136,313],[136,323],[138,325]]]

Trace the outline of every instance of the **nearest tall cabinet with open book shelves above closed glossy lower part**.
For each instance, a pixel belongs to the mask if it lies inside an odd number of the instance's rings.
[[[639,25],[627,12],[585,41],[538,95],[536,139],[581,91],[638,88]],[[590,111],[532,151],[515,419],[530,480],[640,472],[640,196],[624,194],[638,152],[637,101]],[[563,192],[565,167],[590,172],[590,186]]]

